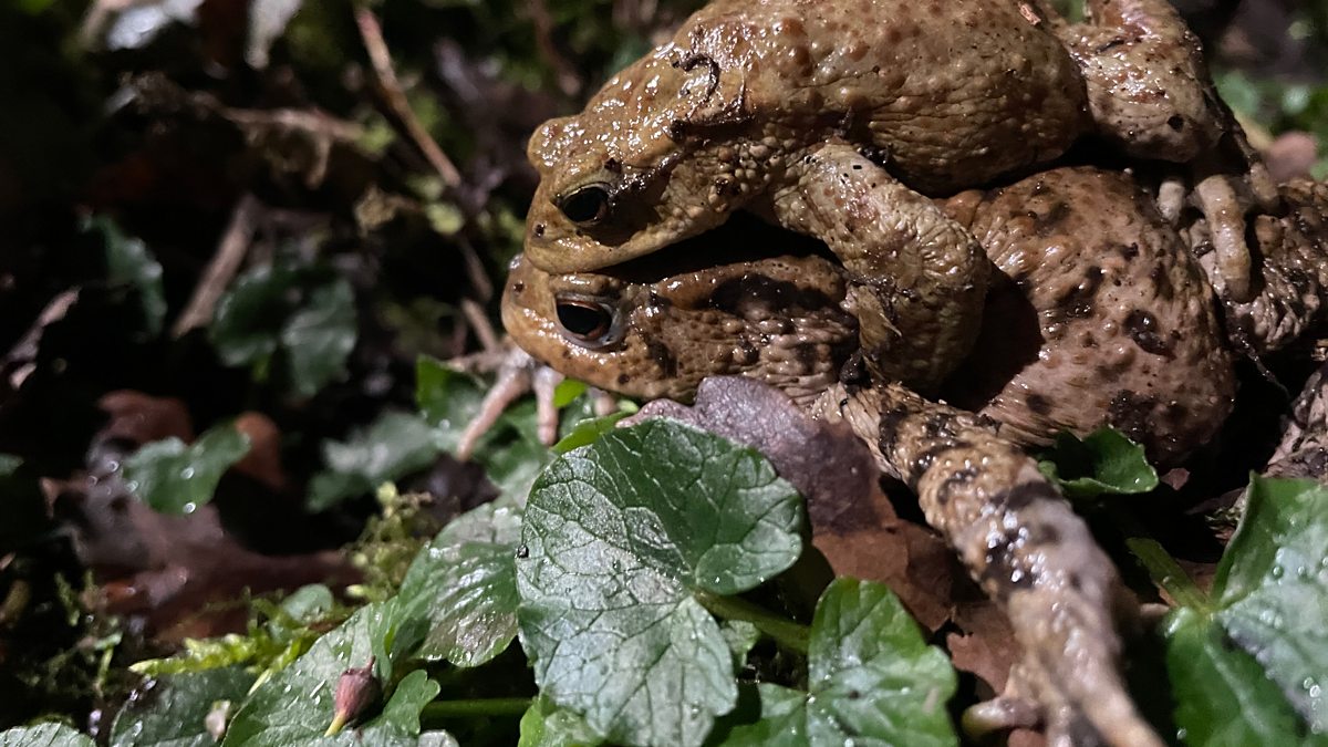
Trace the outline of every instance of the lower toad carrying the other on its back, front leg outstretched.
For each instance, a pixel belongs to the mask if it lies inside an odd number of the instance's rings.
[[[1284,194],[1291,214],[1255,222],[1262,294],[1227,304],[1251,350],[1323,323],[1328,268],[1313,257],[1328,249],[1328,193],[1297,182]],[[1155,743],[1114,669],[1116,572],[1019,444],[1104,423],[1161,461],[1204,441],[1234,393],[1211,290],[1123,174],[1053,170],[942,207],[981,238],[997,278],[977,348],[946,385],[979,413],[890,383],[837,383],[861,310],[849,274],[814,253],[726,262],[692,246],[671,259],[700,266],[676,275],[659,261],[566,275],[518,261],[505,323],[538,358],[610,389],[685,400],[701,377],[737,372],[843,417],[883,469],[919,493],[928,522],[1011,614],[1027,653],[1023,683],[1052,732],[1086,719],[1112,743]],[[1012,526],[1019,541],[993,554],[992,537]]]

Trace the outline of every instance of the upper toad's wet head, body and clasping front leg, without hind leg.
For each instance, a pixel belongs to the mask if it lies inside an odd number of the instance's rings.
[[[932,387],[972,343],[987,265],[914,190],[1045,162],[1086,130],[1078,69],[1042,25],[1017,0],[717,0],[535,133],[526,254],[595,270],[748,207],[825,241],[875,311],[869,363]]]

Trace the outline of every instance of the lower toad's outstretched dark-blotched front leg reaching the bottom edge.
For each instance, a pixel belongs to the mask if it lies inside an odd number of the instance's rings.
[[[928,524],[1009,615],[1052,744],[1094,731],[1108,744],[1162,744],[1120,673],[1116,625],[1137,623],[1137,605],[1032,459],[991,421],[894,384],[837,385],[818,413],[846,420],[916,490]]]

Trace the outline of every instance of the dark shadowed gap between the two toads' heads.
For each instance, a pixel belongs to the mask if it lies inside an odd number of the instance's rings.
[[[628,283],[653,284],[687,272],[774,257],[822,257],[839,265],[825,242],[740,210],[714,229],[596,272]]]

